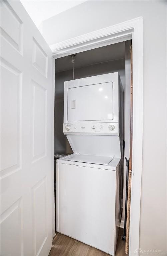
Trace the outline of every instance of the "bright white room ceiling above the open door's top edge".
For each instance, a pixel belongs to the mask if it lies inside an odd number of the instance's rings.
[[[35,25],[39,28],[42,21],[52,16],[55,16],[61,12],[64,12],[78,4],[85,1],[80,0],[68,0],[68,1],[47,1],[47,0],[21,0],[22,5],[34,21]]]

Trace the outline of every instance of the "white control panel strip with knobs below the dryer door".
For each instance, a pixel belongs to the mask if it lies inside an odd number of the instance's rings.
[[[119,133],[118,123],[68,123],[63,124],[66,133]]]

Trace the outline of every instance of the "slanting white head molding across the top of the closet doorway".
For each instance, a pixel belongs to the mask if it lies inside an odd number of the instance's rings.
[[[50,45],[55,58],[95,49],[132,38],[133,28],[141,17],[128,20],[110,27],[80,35],[63,42]]]

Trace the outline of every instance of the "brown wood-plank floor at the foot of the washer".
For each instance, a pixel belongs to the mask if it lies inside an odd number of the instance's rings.
[[[125,256],[125,241],[121,239],[123,229],[119,229],[118,242],[115,256]],[[108,256],[94,247],[81,243],[71,237],[57,233],[49,256]]]

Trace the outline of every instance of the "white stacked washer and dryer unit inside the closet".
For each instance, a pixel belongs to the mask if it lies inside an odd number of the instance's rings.
[[[115,255],[123,177],[118,72],[65,82],[63,132],[73,154],[57,160],[57,232]]]

